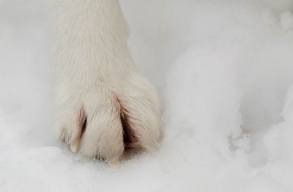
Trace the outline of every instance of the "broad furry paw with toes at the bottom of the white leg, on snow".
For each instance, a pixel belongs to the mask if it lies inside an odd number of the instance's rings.
[[[114,162],[126,150],[157,148],[159,102],[153,87],[136,73],[121,80],[57,86],[55,131],[73,152]]]

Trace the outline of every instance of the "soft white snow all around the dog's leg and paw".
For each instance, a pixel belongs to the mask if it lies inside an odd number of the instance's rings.
[[[46,2],[0,0],[1,192],[292,192],[293,1],[121,0],[165,137],[115,171],[50,131]]]

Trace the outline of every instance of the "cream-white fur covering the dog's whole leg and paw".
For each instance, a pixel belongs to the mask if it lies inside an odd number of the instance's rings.
[[[138,148],[156,149],[159,102],[133,66],[119,0],[54,0],[53,5],[58,138],[72,151],[114,161],[125,150],[126,126]]]

